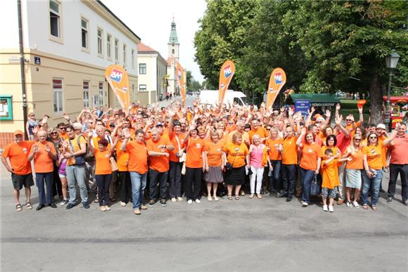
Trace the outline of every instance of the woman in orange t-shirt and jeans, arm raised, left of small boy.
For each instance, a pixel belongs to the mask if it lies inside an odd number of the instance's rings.
[[[305,143],[302,140],[305,139]],[[321,164],[321,148],[320,145],[314,142],[312,132],[306,133],[306,129],[302,129],[302,134],[296,141],[296,144],[302,151],[300,159],[300,176],[302,179],[302,207],[310,205],[310,185],[314,176],[319,174]]]

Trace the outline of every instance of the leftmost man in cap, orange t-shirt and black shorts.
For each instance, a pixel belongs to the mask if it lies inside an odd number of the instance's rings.
[[[20,204],[20,190],[25,188],[25,207],[32,209],[30,203],[31,186],[34,185],[31,174],[31,164],[28,161],[28,154],[31,150],[34,141],[23,141],[23,131],[14,131],[14,142],[6,146],[1,153],[1,162],[6,167],[7,171],[11,173],[11,180],[13,181],[13,197],[15,202],[15,210],[21,212]],[[10,160],[10,164],[8,161]]]

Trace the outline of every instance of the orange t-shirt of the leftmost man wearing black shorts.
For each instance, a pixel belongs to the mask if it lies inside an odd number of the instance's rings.
[[[31,173],[31,163],[28,161],[28,154],[34,141],[22,141],[20,144],[11,143],[6,146],[2,157],[10,159],[11,169],[14,174],[23,176]]]

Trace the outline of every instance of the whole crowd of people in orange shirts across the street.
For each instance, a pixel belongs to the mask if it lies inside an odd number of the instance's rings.
[[[37,210],[89,208],[90,195],[101,211],[119,200],[132,202],[134,214],[160,204],[209,202],[226,196],[240,200],[299,197],[302,207],[321,202],[324,212],[334,202],[347,207],[377,209],[383,172],[390,172],[388,203],[393,202],[397,176],[402,203],[408,206],[407,125],[388,134],[384,124],[353,115],[315,112],[302,116],[293,108],[274,110],[255,105],[201,105],[166,108],[132,103],[127,110],[84,108],[65,122],[48,126],[49,117],[30,113],[25,130],[1,156],[11,173],[15,209],[32,209],[31,163],[39,193]],[[332,125],[333,124],[333,125]],[[8,159],[8,160],[7,160]],[[79,197],[77,197],[79,188]],[[80,200],[79,200],[80,198]],[[93,197],[92,197],[93,199]]]

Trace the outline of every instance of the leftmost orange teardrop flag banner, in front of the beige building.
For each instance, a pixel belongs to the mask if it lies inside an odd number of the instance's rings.
[[[110,88],[113,89],[122,108],[125,111],[129,110],[129,78],[125,68],[120,65],[110,65],[105,70],[105,78],[108,80]]]

